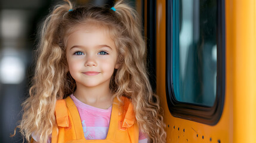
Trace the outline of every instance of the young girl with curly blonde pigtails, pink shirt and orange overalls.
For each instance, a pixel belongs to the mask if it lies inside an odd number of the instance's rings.
[[[27,141],[166,142],[140,20],[124,1],[57,5],[42,27],[29,94],[18,126]]]

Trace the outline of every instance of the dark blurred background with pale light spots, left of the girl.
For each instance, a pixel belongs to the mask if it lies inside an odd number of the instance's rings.
[[[77,5],[113,5],[114,0],[76,0]],[[20,134],[10,138],[21,119],[21,103],[29,96],[36,35],[45,16],[60,0],[0,0],[0,142],[23,142]],[[129,1],[135,7],[135,0]]]

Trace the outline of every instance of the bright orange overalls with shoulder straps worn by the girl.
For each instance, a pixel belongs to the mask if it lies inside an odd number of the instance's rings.
[[[86,140],[81,119],[76,105],[70,97],[58,100],[55,107],[57,127],[53,129],[52,143],[63,142],[122,142],[138,143],[138,125],[133,107],[128,98],[122,97],[121,104],[117,98],[113,100],[109,131],[106,139]],[[58,128],[58,132],[57,132]]]

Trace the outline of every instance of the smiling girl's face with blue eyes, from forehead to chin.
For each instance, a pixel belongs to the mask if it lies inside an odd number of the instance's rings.
[[[117,57],[115,43],[103,28],[78,26],[67,38],[67,64],[77,87],[109,87]]]

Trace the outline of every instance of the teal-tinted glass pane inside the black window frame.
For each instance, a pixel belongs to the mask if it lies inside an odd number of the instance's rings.
[[[175,98],[212,106],[217,76],[217,1],[173,1]]]

